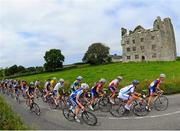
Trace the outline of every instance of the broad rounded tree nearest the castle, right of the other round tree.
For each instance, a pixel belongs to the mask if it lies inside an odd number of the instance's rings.
[[[109,56],[109,47],[103,45],[102,43],[93,43],[89,46],[82,61],[92,65],[110,62],[111,58]]]

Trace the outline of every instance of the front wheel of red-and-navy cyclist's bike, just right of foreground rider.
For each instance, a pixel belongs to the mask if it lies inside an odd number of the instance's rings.
[[[103,97],[101,100],[99,100],[98,106],[100,111],[109,112],[112,107],[112,104],[109,102],[109,98]]]

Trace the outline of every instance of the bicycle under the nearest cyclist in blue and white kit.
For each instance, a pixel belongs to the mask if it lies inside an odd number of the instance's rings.
[[[95,126],[97,124],[97,117],[90,111],[87,110],[81,110],[81,119],[83,122],[85,122],[87,125]],[[75,121],[75,113],[69,109],[69,107],[63,108],[63,115],[64,117],[69,121]]]

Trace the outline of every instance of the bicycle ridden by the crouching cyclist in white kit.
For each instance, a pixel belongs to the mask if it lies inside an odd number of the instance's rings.
[[[142,99],[142,100],[134,100],[131,107],[130,111],[127,111],[125,109],[127,101],[120,100],[119,104],[115,104],[112,106],[110,113],[114,117],[122,117],[124,115],[127,115],[132,111],[135,115],[137,116],[146,116],[148,114],[148,110],[146,109],[147,102]]]

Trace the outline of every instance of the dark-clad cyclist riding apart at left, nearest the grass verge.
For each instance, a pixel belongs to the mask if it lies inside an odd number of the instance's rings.
[[[35,92],[35,85],[34,82],[30,82],[29,87],[26,90],[27,93],[27,106],[31,105],[31,100],[34,98],[34,92]]]

